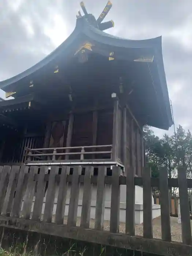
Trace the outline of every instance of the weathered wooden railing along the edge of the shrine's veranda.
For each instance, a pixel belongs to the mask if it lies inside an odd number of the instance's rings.
[[[101,148],[109,148],[105,151],[96,151]],[[78,152],[71,152],[71,151]],[[90,151],[87,151],[90,150]],[[108,159],[112,158],[112,145],[101,146],[82,146],[82,147],[57,147],[57,148],[25,148],[25,157],[28,161],[35,160],[56,160],[56,157],[65,156],[64,159],[69,159],[69,156],[76,155],[77,160],[84,160],[85,155],[91,155],[90,159],[94,159],[95,155],[109,155]],[[87,158],[89,159],[89,158]]]

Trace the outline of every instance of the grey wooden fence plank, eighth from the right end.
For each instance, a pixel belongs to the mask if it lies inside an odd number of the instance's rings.
[[[77,210],[78,210],[78,202],[79,202],[79,175],[81,174],[81,166],[75,166],[72,174],[72,183],[71,183],[71,195],[69,201],[69,210],[68,210],[68,226],[76,226],[77,220]]]

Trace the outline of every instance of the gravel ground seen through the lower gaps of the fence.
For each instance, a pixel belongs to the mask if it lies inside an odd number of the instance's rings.
[[[172,241],[182,242],[181,236],[181,224],[177,222],[176,217],[170,217],[171,221],[171,232],[172,232]],[[67,218],[64,219],[64,223],[67,223]],[[90,221],[90,228],[94,228],[94,219]],[[77,226],[80,225],[80,218],[77,219]],[[110,222],[104,222],[104,230],[109,230]],[[125,233],[125,223],[120,222],[120,232]],[[192,221],[191,221],[192,228]],[[143,224],[137,224],[135,227],[135,234],[137,236],[143,236]],[[161,217],[153,219],[153,237],[161,238]]]

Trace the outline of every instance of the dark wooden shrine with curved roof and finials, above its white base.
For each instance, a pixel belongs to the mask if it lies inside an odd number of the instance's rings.
[[[145,165],[143,125],[173,124],[161,37],[129,40],[103,30],[81,3],[72,34],[45,59],[0,82],[0,164]]]

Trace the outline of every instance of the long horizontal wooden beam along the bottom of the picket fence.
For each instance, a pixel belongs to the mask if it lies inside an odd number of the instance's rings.
[[[165,242],[161,239],[147,239],[139,236],[129,236],[123,233],[110,233],[103,230],[83,229],[67,225],[55,225],[12,217],[0,216],[1,226],[29,230],[52,236],[59,236],[80,241],[92,242],[102,245],[116,246],[119,248],[142,251],[164,256],[188,256],[192,255],[192,246],[178,242]],[[18,228],[19,227],[19,228]]]

